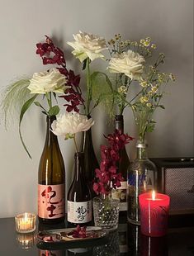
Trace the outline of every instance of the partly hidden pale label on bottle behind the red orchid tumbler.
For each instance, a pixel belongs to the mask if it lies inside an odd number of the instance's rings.
[[[119,199],[119,211],[127,211],[127,202],[126,202],[126,188],[127,182],[121,182],[121,187],[116,187],[112,190],[111,197],[113,199]]]

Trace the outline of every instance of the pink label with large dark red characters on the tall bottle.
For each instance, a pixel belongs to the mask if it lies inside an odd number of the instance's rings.
[[[38,185],[38,216],[57,219],[64,216],[64,184]]]

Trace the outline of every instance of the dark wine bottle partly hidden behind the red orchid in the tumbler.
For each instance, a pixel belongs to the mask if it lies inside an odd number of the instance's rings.
[[[124,133],[124,121],[123,115],[115,116],[115,129],[120,130],[121,133]],[[112,197],[118,198],[120,200],[119,211],[126,213],[127,211],[127,198],[126,198],[126,189],[127,189],[127,169],[130,166],[130,159],[126,153],[125,147],[120,151],[120,162],[119,162],[119,172],[121,173],[124,181],[121,182],[121,187],[117,187],[116,190],[113,190]]]

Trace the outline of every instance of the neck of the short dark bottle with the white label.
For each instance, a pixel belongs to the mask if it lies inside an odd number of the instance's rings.
[[[74,154],[75,168],[74,168],[74,181],[78,182],[83,178],[84,154],[83,152],[76,152]]]

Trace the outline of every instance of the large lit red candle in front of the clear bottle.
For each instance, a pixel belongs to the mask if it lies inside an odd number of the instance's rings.
[[[168,230],[170,197],[150,192],[140,194],[140,228],[148,236],[163,236]]]

